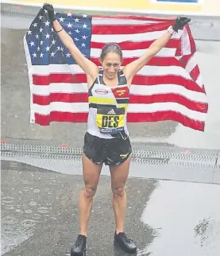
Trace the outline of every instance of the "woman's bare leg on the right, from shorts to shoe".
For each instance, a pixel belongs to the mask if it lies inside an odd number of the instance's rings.
[[[129,175],[130,159],[131,157],[129,157],[122,165],[110,167],[114,219],[117,234],[124,231],[126,210],[125,182]]]

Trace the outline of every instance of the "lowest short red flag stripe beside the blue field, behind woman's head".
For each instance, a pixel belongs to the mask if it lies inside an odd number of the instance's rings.
[[[134,60],[137,60],[137,58],[125,58],[122,61],[122,66],[125,66],[131,62],[133,62]],[[96,65],[100,65],[100,62],[97,58],[91,58],[90,59],[93,63],[95,63]],[[179,62],[178,60],[176,60],[175,57],[164,57],[164,56],[154,56],[152,57],[151,60],[149,60],[149,62],[147,63],[147,66],[164,66],[164,67],[168,67],[168,66],[176,66],[176,67],[182,67],[181,62]]]

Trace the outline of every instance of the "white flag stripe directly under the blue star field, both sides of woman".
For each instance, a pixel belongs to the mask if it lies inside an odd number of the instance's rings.
[[[123,68],[123,66],[122,66]],[[77,64],[49,64],[47,67],[34,65],[32,66],[33,75],[42,75],[46,76],[53,73],[61,74],[84,74],[83,69]],[[176,75],[183,76],[188,80],[192,80],[189,73],[182,67],[176,66],[145,66],[141,68],[138,75],[141,76],[168,76]]]

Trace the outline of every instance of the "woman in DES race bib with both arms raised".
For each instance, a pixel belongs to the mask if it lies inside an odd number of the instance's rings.
[[[84,137],[82,157],[85,185],[79,198],[79,236],[71,248],[71,256],[83,255],[86,248],[87,224],[103,163],[110,166],[116,225],[114,244],[126,252],[134,252],[137,246],[132,240],[127,239],[124,232],[125,182],[129,175],[132,153],[126,126],[129,88],[133,76],[167,44],[172,34],[186,25],[190,19],[178,17],[174,25],[168,28],[168,32],[153,42],[143,56],[127,64],[122,70],[122,49],[116,44],[107,44],[102,48],[102,69],[99,69],[75,46],[71,37],[56,20],[52,5],[44,4],[43,8],[48,11],[53,29],[58,33],[60,40],[86,73],[89,92],[88,129]]]

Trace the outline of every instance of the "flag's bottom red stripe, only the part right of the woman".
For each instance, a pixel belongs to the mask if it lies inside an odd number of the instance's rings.
[[[199,122],[183,116],[175,111],[158,111],[154,113],[128,113],[127,122],[157,122],[172,120],[182,123],[183,126],[191,127],[195,130],[204,131],[205,122]]]

